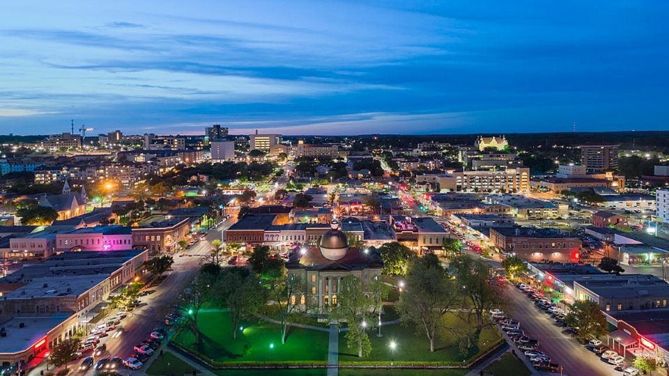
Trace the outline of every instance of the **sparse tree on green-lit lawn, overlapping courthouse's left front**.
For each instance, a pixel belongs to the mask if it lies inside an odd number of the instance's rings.
[[[297,302],[304,294],[303,281],[298,275],[288,275],[284,267],[281,276],[272,279],[270,283],[270,295],[277,306],[277,318],[281,322],[281,343],[286,343],[288,330],[291,328],[291,316],[298,309]]]

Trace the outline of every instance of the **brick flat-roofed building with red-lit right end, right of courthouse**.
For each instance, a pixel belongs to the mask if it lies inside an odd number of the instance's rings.
[[[490,240],[502,255],[530,262],[576,262],[582,246],[576,235],[557,228],[491,228]]]

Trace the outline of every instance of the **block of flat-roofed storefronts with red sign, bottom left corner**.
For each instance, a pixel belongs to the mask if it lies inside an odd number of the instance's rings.
[[[109,292],[147,259],[146,251],[66,252],[0,279],[0,363],[22,367],[91,329]]]

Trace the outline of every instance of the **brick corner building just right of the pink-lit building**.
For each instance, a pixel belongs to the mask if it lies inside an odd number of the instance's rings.
[[[132,245],[151,253],[174,252],[180,241],[190,239],[190,220],[172,218],[132,228]]]

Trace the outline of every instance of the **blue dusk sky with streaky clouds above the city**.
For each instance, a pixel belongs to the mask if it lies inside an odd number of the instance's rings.
[[[667,19],[663,0],[8,1],[0,134],[669,130]]]

